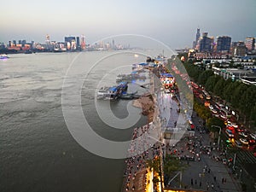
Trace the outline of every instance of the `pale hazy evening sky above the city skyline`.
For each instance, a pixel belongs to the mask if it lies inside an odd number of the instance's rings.
[[[121,34],[191,47],[196,28],[232,41],[256,37],[256,0],[9,0],[1,5],[0,42],[44,43],[84,34],[92,44]]]

